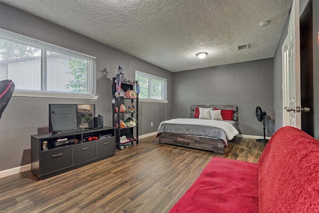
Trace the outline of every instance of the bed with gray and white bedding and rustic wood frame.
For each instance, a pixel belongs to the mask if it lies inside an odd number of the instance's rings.
[[[227,118],[228,120],[225,121],[198,119],[200,108],[206,108],[205,111],[209,109],[220,109],[222,112],[231,111],[232,116],[231,119]],[[237,105],[191,105],[189,118],[161,122],[157,137],[163,144],[208,150],[223,155],[224,147],[239,134],[237,129]]]

